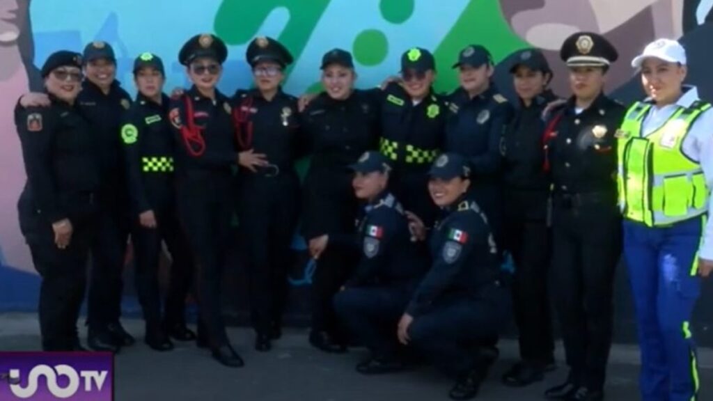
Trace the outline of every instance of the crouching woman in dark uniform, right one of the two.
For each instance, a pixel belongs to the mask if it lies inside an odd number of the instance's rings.
[[[398,328],[402,343],[457,378],[449,394],[453,400],[476,396],[488,367],[478,350],[498,335],[510,313],[511,295],[499,280],[498,250],[487,218],[467,200],[469,164],[458,153],[443,153],[429,171],[429,192],[443,218],[429,239],[433,265]]]

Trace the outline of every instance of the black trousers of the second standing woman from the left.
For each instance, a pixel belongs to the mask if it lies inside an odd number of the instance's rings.
[[[87,305],[87,324],[93,328],[116,323],[121,316],[122,275],[130,233],[127,206],[120,193],[99,194]]]

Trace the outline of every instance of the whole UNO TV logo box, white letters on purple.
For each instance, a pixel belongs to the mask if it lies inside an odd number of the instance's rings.
[[[8,372],[7,386],[0,385],[0,398],[9,387],[11,400],[96,400],[111,401],[113,363],[111,355],[53,354],[42,358],[24,358],[16,363],[0,363]],[[4,355],[0,355],[4,357]],[[103,357],[108,363],[101,361]],[[28,363],[34,360],[34,363]],[[104,362],[104,363],[102,363]],[[12,397],[14,395],[14,397]]]

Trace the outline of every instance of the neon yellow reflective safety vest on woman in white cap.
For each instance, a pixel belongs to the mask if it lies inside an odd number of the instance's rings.
[[[660,128],[643,136],[651,104],[629,108],[617,130],[619,205],[625,218],[650,227],[707,213],[708,188],[702,168],[681,147],[692,124],[710,103],[679,107]]]

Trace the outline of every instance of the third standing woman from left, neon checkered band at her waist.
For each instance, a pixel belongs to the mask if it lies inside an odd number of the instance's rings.
[[[124,117],[121,139],[133,212],[136,289],[146,323],[145,342],[154,350],[165,351],[173,349],[169,335],[176,340],[195,340],[195,334],[186,328],[184,313],[193,263],[175,205],[175,146],[168,122],[169,99],[162,92],[163,61],[155,54],[140,54],[133,73],[138,95]],[[162,240],[173,261],[163,319],[158,288]]]

